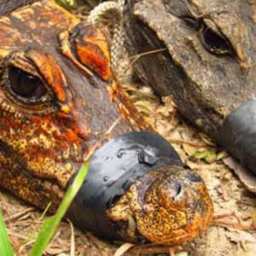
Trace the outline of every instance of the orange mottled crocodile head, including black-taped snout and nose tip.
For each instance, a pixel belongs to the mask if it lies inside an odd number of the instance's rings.
[[[104,29],[80,23],[53,0],[5,3],[0,5],[1,185],[37,207],[51,202],[55,212],[93,154],[67,213],[81,229],[109,239],[174,244],[206,230],[212,202],[201,178],[162,137],[130,132],[148,126],[114,83]],[[134,187],[143,194],[133,193]],[[130,201],[122,205],[128,190]],[[142,195],[148,195],[147,204],[152,201],[151,213],[143,211]],[[125,215],[121,206],[129,208]],[[157,220],[161,212],[172,218]],[[158,234],[145,228],[147,214]],[[137,222],[133,232],[131,218]],[[169,230],[160,225],[166,221]]]

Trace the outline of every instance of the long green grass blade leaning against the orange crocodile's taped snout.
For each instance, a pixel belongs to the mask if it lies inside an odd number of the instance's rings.
[[[72,186],[67,189],[67,194],[65,195],[63,201],[61,202],[61,206],[58,208],[58,211],[55,215],[48,220],[45,221],[42,230],[38,234],[38,238],[32,247],[32,252],[30,256],[41,256],[44,253],[49,241],[55,235],[55,230],[61,222],[61,218],[64,217],[65,213],[67,212],[67,208],[73,201],[73,198],[78,193],[81,185],[84,182],[84,178],[86,177],[88,172],[88,164],[85,164],[77,177],[75,177]],[[5,255],[5,254],[4,254]]]

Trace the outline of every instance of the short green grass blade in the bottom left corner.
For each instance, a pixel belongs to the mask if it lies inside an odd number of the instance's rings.
[[[14,256],[14,251],[7,235],[6,226],[3,221],[2,212],[0,210],[0,255]]]

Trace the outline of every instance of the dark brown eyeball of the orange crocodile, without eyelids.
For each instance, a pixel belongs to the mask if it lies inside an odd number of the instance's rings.
[[[20,68],[9,67],[9,89],[17,96],[39,99],[45,96],[47,89],[38,77],[26,73]]]

